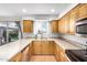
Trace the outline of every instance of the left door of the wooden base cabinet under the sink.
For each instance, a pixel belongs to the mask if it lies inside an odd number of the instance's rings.
[[[42,54],[41,41],[33,41],[32,45],[33,45],[33,54]]]

